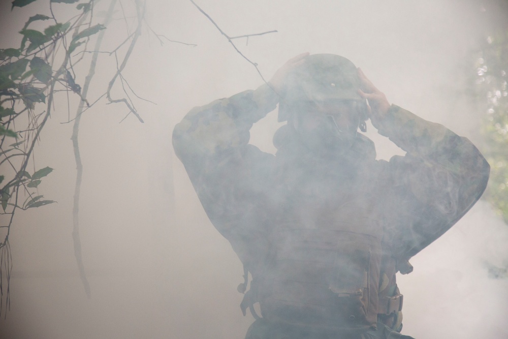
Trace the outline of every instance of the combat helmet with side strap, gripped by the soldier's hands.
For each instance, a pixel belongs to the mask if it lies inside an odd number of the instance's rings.
[[[299,102],[358,101],[361,103],[359,125],[365,132],[367,103],[358,94],[359,88],[358,71],[350,60],[335,54],[309,55],[284,81],[278,121],[288,120]]]

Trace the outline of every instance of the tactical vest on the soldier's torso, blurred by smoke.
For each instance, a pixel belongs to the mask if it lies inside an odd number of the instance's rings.
[[[378,295],[382,197],[371,181],[375,176],[366,174],[372,169],[339,173],[338,166],[332,167],[313,168],[321,171],[315,175],[301,172],[302,166],[284,171],[290,191],[269,226],[269,253],[251,270],[244,314],[249,307],[258,317],[252,305],[259,302],[262,317],[270,322],[362,333],[376,327],[378,314],[400,311],[396,286]],[[390,270],[394,276],[395,267]],[[245,287],[241,284],[239,291]]]

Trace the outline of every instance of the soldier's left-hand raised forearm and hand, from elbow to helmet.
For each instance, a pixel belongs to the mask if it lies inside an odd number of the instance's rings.
[[[205,159],[246,146],[252,124],[275,109],[285,76],[307,55],[302,53],[288,60],[268,84],[256,90],[245,90],[190,110],[173,131],[173,147],[187,171],[197,175]]]

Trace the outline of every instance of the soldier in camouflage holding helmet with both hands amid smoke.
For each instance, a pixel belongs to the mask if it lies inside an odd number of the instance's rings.
[[[248,141],[277,103],[274,156]],[[376,160],[358,132],[367,119],[406,155]],[[193,108],[173,146],[244,265],[240,292],[251,273],[247,339],[410,338],[395,275],[480,198],[490,170],[469,140],[390,105],[333,54],[298,55],[258,89]]]

